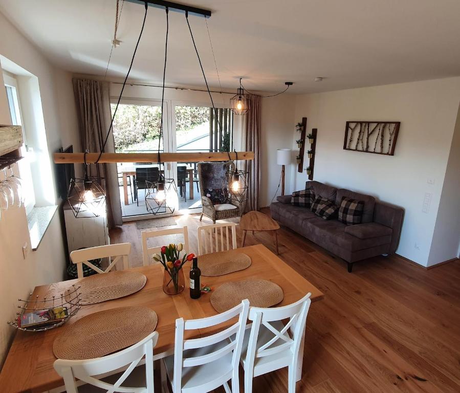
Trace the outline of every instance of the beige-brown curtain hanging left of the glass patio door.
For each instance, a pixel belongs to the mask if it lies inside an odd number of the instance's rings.
[[[100,152],[111,122],[109,84],[90,79],[73,79],[75,102],[80,130],[81,148]],[[113,134],[105,145],[105,152],[115,152]],[[107,221],[109,228],[122,225],[117,164],[92,164],[90,176],[105,179]]]

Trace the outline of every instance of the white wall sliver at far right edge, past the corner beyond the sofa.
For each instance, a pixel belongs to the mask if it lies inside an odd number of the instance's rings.
[[[447,162],[428,265],[457,258],[460,253],[460,106]]]

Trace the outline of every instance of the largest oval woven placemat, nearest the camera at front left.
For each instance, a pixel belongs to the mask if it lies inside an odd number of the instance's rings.
[[[94,359],[134,345],[155,331],[157,314],[146,307],[121,307],[87,315],[67,325],[53,342],[58,359]]]

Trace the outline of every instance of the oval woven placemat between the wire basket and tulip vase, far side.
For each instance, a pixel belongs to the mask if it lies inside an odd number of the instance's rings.
[[[95,274],[77,282],[80,304],[94,304],[131,295],[144,288],[147,277],[139,272],[117,271]]]

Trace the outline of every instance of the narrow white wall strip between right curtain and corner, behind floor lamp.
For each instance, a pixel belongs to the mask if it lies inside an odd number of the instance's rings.
[[[261,136],[260,136],[260,191],[259,206],[270,206],[275,196],[281,176],[281,166],[276,164],[276,149],[293,149],[292,130],[294,129],[295,96],[284,95],[262,98]],[[285,194],[294,191],[291,181],[297,165],[295,150],[292,151],[292,164],[286,166],[284,181]],[[276,195],[281,195],[281,186]]]

